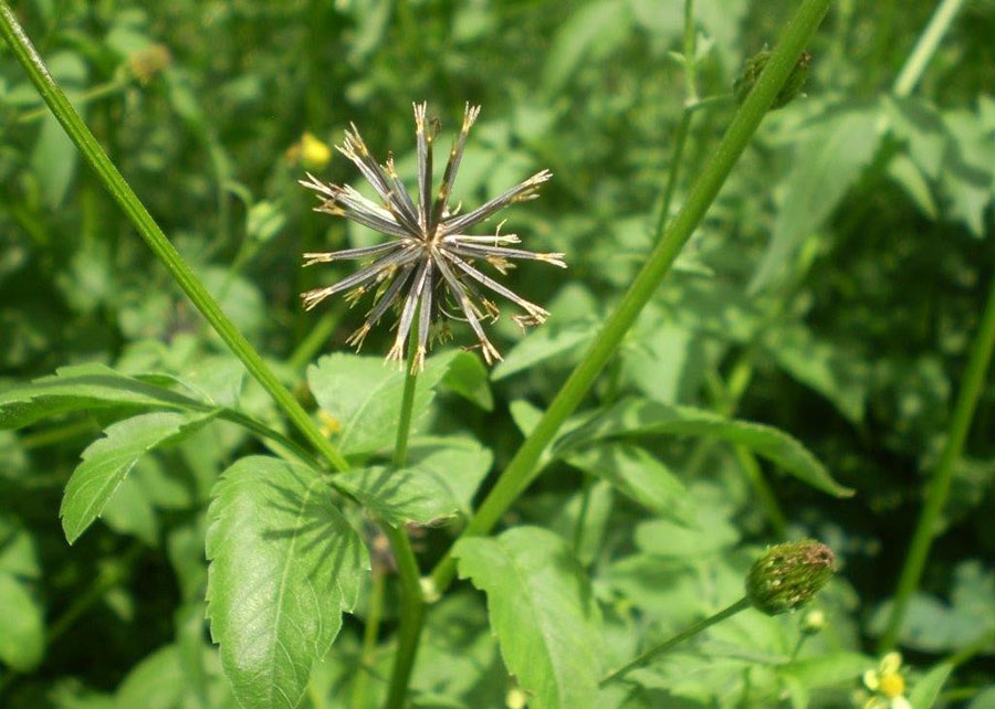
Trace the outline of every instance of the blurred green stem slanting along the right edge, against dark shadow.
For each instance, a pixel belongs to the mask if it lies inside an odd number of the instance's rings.
[[[985,385],[985,372],[992,359],[993,346],[995,346],[995,277],[992,278],[988,299],[982,315],[977,335],[975,335],[974,342],[971,345],[971,354],[967,358],[967,366],[961,380],[961,390],[957,393],[957,401],[954,405],[953,417],[946,434],[946,443],[930,477],[925,504],[919,516],[919,522],[915,525],[915,532],[912,536],[912,543],[905,557],[905,564],[902,568],[901,576],[899,576],[898,590],[894,594],[888,626],[878,646],[881,653],[894,647],[899,629],[905,617],[905,611],[909,609],[909,601],[919,586],[919,580],[922,576],[930,547],[939,531],[940,516],[943,512],[943,507],[946,505],[946,498],[950,496],[950,484],[953,479],[954,467],[961,457],[961,452],[964,449],[964,441],[967,438],[967,433],[971,430],[971,420],[974,417],[977,399]]]

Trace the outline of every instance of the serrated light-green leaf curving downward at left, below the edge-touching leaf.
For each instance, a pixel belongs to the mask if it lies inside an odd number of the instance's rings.
[[[119,421],[107,427],[104,438],[83,452],[73,472],[59,516],[70,543],[100,517],[118,485],[143,455],[177,441],[208,423],[214,413],[156,412]]]

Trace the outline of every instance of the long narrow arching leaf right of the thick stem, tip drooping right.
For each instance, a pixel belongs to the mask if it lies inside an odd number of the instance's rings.
[[[816,489],[837,497],[853,494],[851,489],[836,483],[808,448],[777,428],[724,419],[690,406],[670,406],[640,399],[621,401],[586,425],[572,431],[561,438],[555,453],[563,456],[601,438],[661,434],[710,436],[727,443],[739,443]]]

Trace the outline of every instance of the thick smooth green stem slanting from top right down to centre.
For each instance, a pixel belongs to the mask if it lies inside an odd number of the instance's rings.
[[[804,0],[795,18],[764,68],[753,91],[743,102],[715,149],[711,161],[691,189],[681,211],[659,239],[642,271],[622,296],[615,313],[605,321],[598,337],[553,399],[538,425],[519,448],[498,483],[481,504],[463,536],[484,535],[498,522],[534,477],[535,464],[559,431],[563,422],[577,409],[601,368],[615,353],[622,337],[652,297],[663,276],[691,237],[740,155],[763,120],[816,28],[829,9],[830,0]],[[441,591],[455,575],[455,562],[447,553],[432,572],[432,581]]]

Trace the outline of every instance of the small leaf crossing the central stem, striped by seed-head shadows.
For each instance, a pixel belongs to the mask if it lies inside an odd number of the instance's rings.
[[[339,473],[328,482],[394,527],[428,525],[462,508],[446,476],[428,467],[375,466]]]

